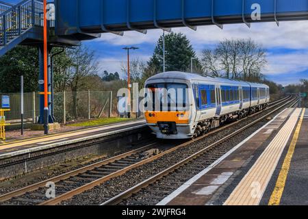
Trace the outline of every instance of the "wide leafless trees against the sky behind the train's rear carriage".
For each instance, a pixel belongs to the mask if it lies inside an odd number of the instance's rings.
[[[205,49],[202,57],[207,75],[251,81],[263,77],[266,63],[266,51],[251,39],[224,40],[214,50]]]

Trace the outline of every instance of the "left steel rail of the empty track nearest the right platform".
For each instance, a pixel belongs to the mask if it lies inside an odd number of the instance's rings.
[[[274,112],[277,112],[282,107],[284,107],[287,104],[292,103],[295,100],[296,99],[292,99],[292,100],[288,101],[287,103],[281,105],[280,107],[277,107],[276,109],[272,110],[272,112],[266,114],[265,116],[261,116],[261,118],[258,118],[257,120],[253,121],[253,123],[249,123],[248,125],[242,127],[241,129],[234,131],[233,133],[229,134],[229,136],[225,136],[224,138],[218,140],[214,144],[211,144],[211,145],[207,146],[205,149],[202,149],[201,151],[198,151],[198,152],[194,153],[193,155],[190,155],[190,157],[187,157],[187,158],[183,159],[181,162],[179,162],[179,163],[177,163],[173,166],[170,166],[169,168],[167,168],[166,170],[163,170],[162,172],[159,172],[157,175],[155,175],[155,176],[153,176],[149,179],[146,179],[145,181],[142,181],[138,185],[135,185],[132,188],[130,188],[129,190],[126,190],[125,192],[122,192],[122,193],[118,194],[117,196],[114,196],[114,198],[111,198],[110,200],[105,201],[105,203],[102,203],[101,205],[117,205],[118,203],[123,201],[125,198],[129,198],[132,194],[135,194],[136,192],[139,192],[143,188],[148,187],[150,184],[155,183],[159,179],[162,179],[162,177],[170,175],[170,173],[172,173],[175,170],[181,168],[181,166],[188,164],[189,162],[196,159],[197,157],[203,155],[204,153],[207,153],[207,151],[215,148],[216,146],[222,144],[223,142],[226,142],[227,140],[229,140],[233,136],[236,136],[237,134],[242,133],[242,131],[245,131],[246,129],[252,127],[253,125],[259,123],[261,120],[264,120],[265,118],[267,118],[268,116],[270,116]],[[292,106],[294,106],[296,104],[296,102]]]

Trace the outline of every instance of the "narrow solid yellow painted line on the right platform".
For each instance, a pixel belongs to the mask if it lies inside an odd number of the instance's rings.
[[[290,170],[292,157],[294,155],[295,146],[296,146],[298,136],[300,133],[300,127],[302,126],[302,123],[303,123],[304,115],[305,115],[305,108],[303,109],[302,115],[300,116],[300,120],[296,127],[289,150],[287,151],[287,155],[285,156],[283,166],[281,168],[281,171],[279,172],[277,183],[275,185],[274,191],[272,192],[272,196],[270,196],[270,201],[268,202],[268,205],[279,205],[280,204],[281,197],[283,195],[283,190],[285,189],[285,182],[287,181],[287,174],[289,173],[289,170]]]

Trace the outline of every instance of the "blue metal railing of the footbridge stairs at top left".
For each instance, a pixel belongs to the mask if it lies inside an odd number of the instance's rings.
[[[0,47],[31,27],[43,26],[42,0],[24,0],[16,5],[3,7],[7,8],[4,12],[0,11]],[[54,27],[54,23],[49,21],[49,27]]]

